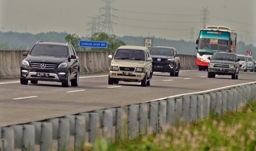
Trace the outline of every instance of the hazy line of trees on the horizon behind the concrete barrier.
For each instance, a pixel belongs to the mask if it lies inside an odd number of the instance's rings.
[[[106,33],[94,33],[91,37],[78,37],[77,34],[69,34],[67,32],[47,32],[47,33],[19,33],[19,32],[0,32],[0,50],[30,50],[37,41],[43,42],[59,42],[72,43],[77,51],[115,51],[121,45],[144,45],[142,36],[108,36]],[[148,37],[149,38],[149,37]],[[161,45],[166,47],[175,47],[179,54],[197,55],[195,42],[187,42],[181,40],[170,40],[165,38],[150,37],[153,39],[153,45]],[[81,48],[79,40],[106,41],[108,47],[102,48]],[[256,58],[253,44],[244,42],[237,43],[237,54],[244,54],[246,50],[252,50],[254,58]]]

